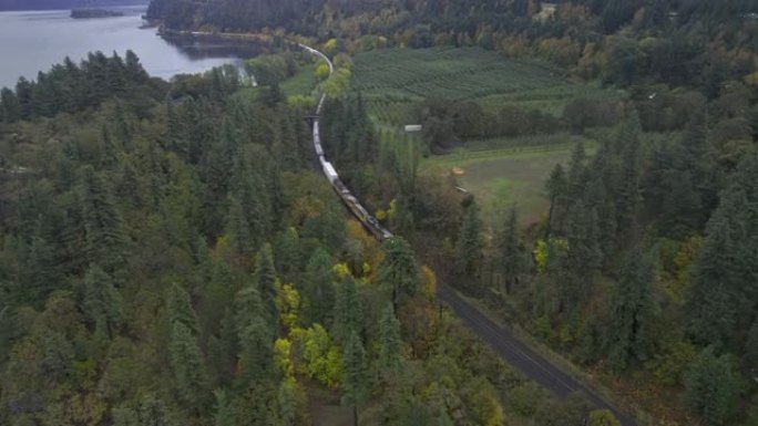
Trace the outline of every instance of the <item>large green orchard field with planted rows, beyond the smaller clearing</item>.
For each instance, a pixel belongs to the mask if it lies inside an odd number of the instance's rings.
[[[424,97],[475,100],[485,108],[521,105],[560,115],[574,97],[621,98],[623,92],[575,84],[537,61],[506,59],[480,48],[386,49],[355,58],[352,86],[385,124],[407,124]]]

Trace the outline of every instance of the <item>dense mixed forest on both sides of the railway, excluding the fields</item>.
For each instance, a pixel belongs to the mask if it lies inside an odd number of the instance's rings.
[[[403,238],[378,245],[317,178],[313,100],[279,89],[311,66],[297,53],[248,62],[257,87],[233,67],[150,79],[131,53],[21,80],[0,97],[0,423],[294,425],[341,403],[361,424],[614,424],[498,361],[438,310],[439,279],[663,424],[754,424],[754,9],[154,0],[171,29],[322,43],[329,158]],[[422,138],[376,126],[349,55],[437,45],[540,58],[628,98],[561,116],[429,98]],[[418,170],[450,135],[555,132],[597,147],[554,167],[525,229],[515,206],[486,227],[475,197]]]

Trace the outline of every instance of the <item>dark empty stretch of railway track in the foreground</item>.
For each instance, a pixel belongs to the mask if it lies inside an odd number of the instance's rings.
[[[461,299],[451,288],[440,284],[438,287],[438,295],[474,334],[492,346],[509,364],[524,373],[526,377],[560,397],[566,397],[575,392],[581,392],[596,407],[610,409],[623,426],[636,426],[636,423],[628,415],[619,413],[595,393],[551,364],[516,339],[509,330],[490,321],[490,319]]]

